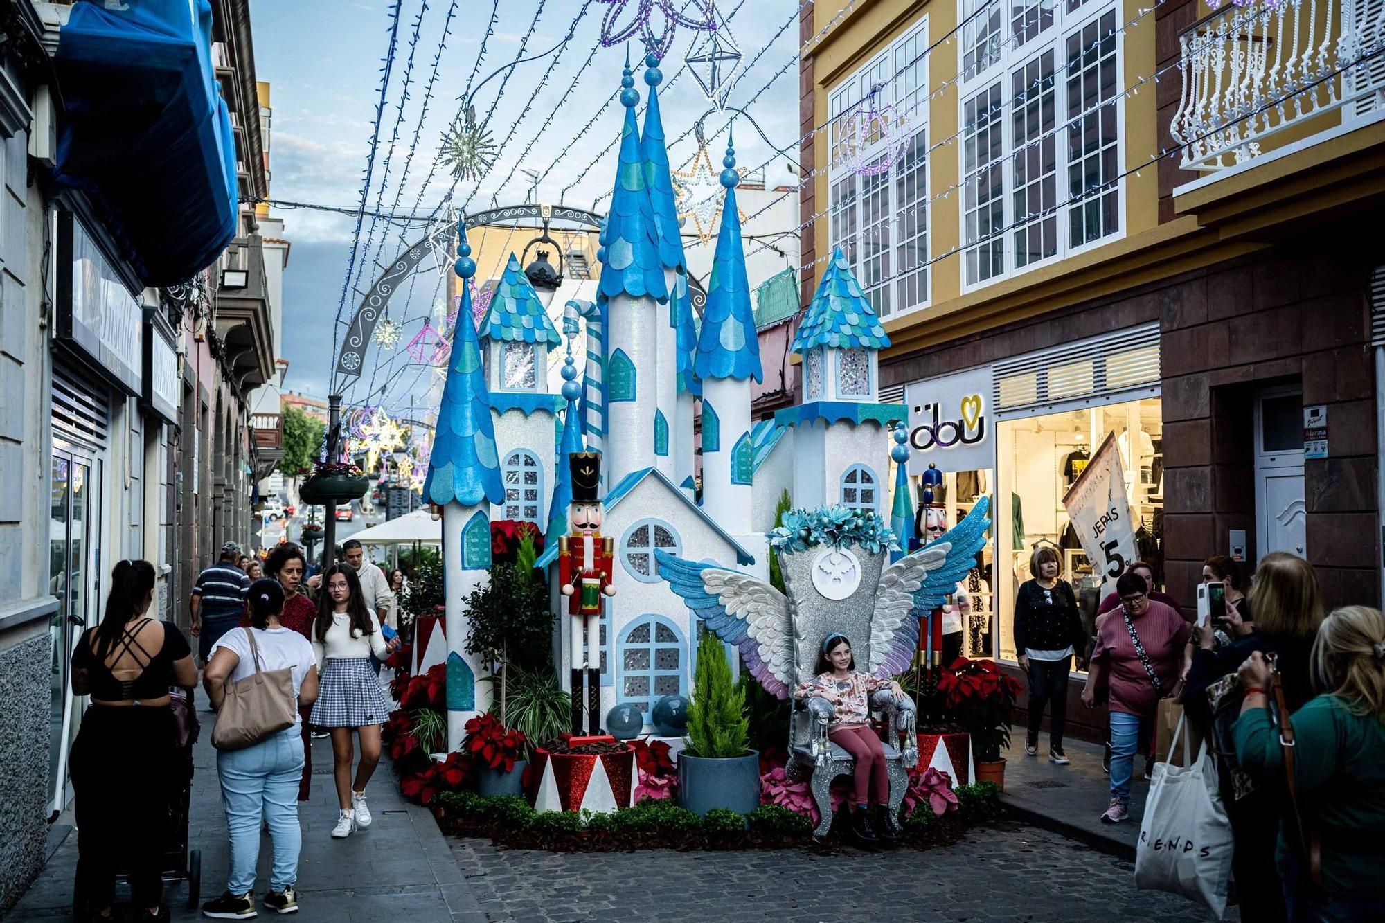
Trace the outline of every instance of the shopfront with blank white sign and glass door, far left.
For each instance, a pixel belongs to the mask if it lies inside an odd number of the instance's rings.
[[[57,328],[53,344],[51,504],[48,586],[58,600],[53,635],[50,782],[53,809],[71,798],[66,754],[82,719],[83,700],[71,693],[69,664],[78,638],[100,621],[104,574],[112,554],[111,471],[129,452],[130,398],[143,391],[143,312],[80,219],[60,211]],[[119,557],[118,554],[115,557]]]

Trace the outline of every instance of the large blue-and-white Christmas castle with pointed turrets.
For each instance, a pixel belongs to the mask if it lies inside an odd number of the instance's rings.
[[[892,438],[895,424],[907,421],[907,409],[878,401],[877,359],[889,337],[841,252],[828,263],[792,345],[803,356],[805,402],[773,417],[752,417],[751,381],[760,380],[762,369],[730,140],[716,175],[720,220],[708,298],[702,317],[695,316],[658,64],[655,54],[644,60],[650,96],[643,130],[629,62],[622,73],[625,122],[600,234],[596,301],[569,301],[560,335],[511,258],[479,334],[457,323],[424,496],[442,509],[445,522],[449,708],[463,719],[485,708],[489,683],[479,682],[482,665],[460,650],[467,632],[460,600],[485,579],[489,540],[482,536],[489,539],[494,518],[530,521],[546,536],[537,567],[548,577],[553,611],[562,613],[554,667],[571,682],[573,707],[580,708],[573,725],[580,722],[586,732],[597,730],[618,704],[637,708],[651,729],[661,698],[691,693],[692,657],[708,613],[691,606],[687,586],[661,578],[659,563],[734,570],[767,583],[767,535],[785,489],[799,509],[841,506],[845,511],[834,516],[870,513],[881,529],[899,524],[902,547],[889,557],[909,550],[911,498],[907,484],[891,477],[892,450],[896,460],[907,455]],[[475,263],[464,243],[458,254],[456,272],[465,281]],[[463,292],[458,316],[470,317],[470,284]],[[564,384],[561,394],[551,394],[544,367],[564,337]],[[586,338],[580,367],[572,359],[576,337]],[[701,427],[694,432],[698,401]],[[583,453],[594,453],[594,486],[573,481],[572,459]],[[601,514],[604,540],[591,545],[591,568],[586,543],[571,538],[583,532],[579,507]],[[560,540],[564,536],[569,540]],[[564,546],[566,581],[557,567]],[[871,561],[885,556],[882,549]],[[608,565],[602,570],[596,557]],[[573,575],[584,570],[601,577],[597,606],[583,611]],[[564,585],[579,606],[575,615],[566,614],[573,603],[561,593]],[[899,642],[907,646],[909,628],[903,631]]]

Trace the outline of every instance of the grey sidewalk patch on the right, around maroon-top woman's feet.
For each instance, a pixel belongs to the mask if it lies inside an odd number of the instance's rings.
[[[1047,735],[1039,739],[1039,755],[1025,755],[1025,732],[1018,729],[1006,755],[1006,791],[1001,801],[1011,815],[1035,826],[1079,840],[1109,855],[1134,859],[1150,783],[1144,779],[1144,757],[1134,758],[1130,783],[1130,819],[1101,823],[1111,804],[1111,776],[1101,769],[1101,744],[1064,740],[1072,762],[1048,762]]]

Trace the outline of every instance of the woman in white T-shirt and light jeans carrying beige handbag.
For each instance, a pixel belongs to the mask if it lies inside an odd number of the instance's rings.
[[[244,919],[255,911],[255,865],[260,819],[274,840],[266,908],[298,909],[298,783],[303,772],[299,705],[317,698],[317,664],[306,638],[280,624],[284,588],[251,585],[251,628],[230,631],[212,647],[202,683],[217,711],[212,743],[231,838],[226,894],[202,905],[202,915]]]

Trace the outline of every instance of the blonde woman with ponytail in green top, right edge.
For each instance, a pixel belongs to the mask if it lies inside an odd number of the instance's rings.
[[[1317,697],[1294,712],[1292,736],[1269,708],[1278,678],[1265,654],[1251,654],[1237,675],[1245,689],[1237,762],[1258,789],[1281,794],[1277,859],[1289,923],[1385,920],[1385,617],[1346,606],[1323,619],[1309,658]]]

